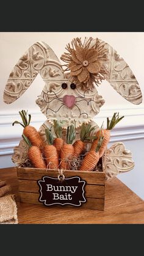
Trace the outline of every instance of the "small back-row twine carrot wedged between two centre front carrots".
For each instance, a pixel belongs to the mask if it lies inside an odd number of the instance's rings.
[[[63,147],[64,141],[62,139],[62,125],[57,120],[54,120],[54,132],[56,134],[56,138],[54,139],[54,146],[57,149],[59,158],[60,158],[60,152]]]

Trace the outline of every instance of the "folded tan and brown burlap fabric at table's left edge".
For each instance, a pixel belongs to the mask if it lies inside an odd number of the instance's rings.
[[[18,224],[15,196],[6,181],[0,181],[0,224]]]

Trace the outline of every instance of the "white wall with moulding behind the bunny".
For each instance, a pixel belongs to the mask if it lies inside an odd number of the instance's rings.
[[[65,51],[65,46],[73,37],[92,36],[98,37],[113,46],[114,49],[126,60],[137,78],[142,93],[144,92],[144,33],[143,32],[1,32],[0,33],[0,167],[13,166],[11,155],[13,147],[18,144],[21,136],[20,126],[12,126],[13,120],[18,119],[18,111],[29,109],[33,113],[33,125],[38,128],[45,121],[35,104],[37,95],[43,89],[44,82],[37,76],[32,86],[21,98],[13,104],[3,103],[3,90],[10,71],[24,51],[37,41],[44,41],[54,50],[58,57]],[[133,105],[118,95],[115,90],[104,81],[98,89],[106,103],[101,112],[96,116],[100,125],[102,120],[111,116],[114,111],[119,111],[125,118],[113,130],[112,141],[122,141],[130,149],[135,161],[135,167],[127,174],[118,175],[129,188],[144,199],[144,101],[140,105]],[[144,96],[144,93],[143,93]],[[110,144],[112,144],[110,142]]]

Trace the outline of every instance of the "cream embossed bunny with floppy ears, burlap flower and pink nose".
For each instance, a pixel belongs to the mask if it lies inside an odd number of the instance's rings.
[[[133,104],[142,102],[142,93],[134,74],[112,46],[98,38],[85,38],[84,42],[81,38],[74,38],[66,49],[67,53],[61,57],[66,63],[63,70],[56,54],[46,43],[35,43],[18,60],[5,86],[4,102],[10,104],[31,86],[38,73],[41,75],[45,87],[36,103],[47,119],[40,127],[43,140],[44,129],[54,119],[61,120],[64,129],[76,121],[77,137],[83,122],[96,125],[92,119],[104,104],[96,86],[104,79],[126,100]],[[21,140],[14,149],[13,161],[20,163],[26,158],[26,153],[27,146]],[[131,170],[132,167],[131,152],[125,150],[121,142],[106,150],[103,168],[107,177]]]

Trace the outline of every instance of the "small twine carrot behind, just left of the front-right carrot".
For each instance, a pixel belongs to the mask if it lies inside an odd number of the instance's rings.
[[[92,125],[85,123],[82,123],[81,126],[81,139],[74,142],[74,156],[77,158],[79,155],[81,155],[82,151],[84,150],[84,142],[90,142],[92,139],[96,139],[96,136],[90,136],[92,131],[95,130],[95,126],[92,127]]]

